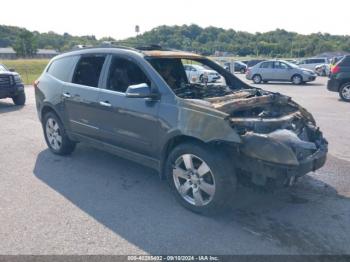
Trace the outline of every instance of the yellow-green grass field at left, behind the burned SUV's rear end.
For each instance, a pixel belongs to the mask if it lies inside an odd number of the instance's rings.
[[[49,60],[47,59],[16,59],[0,60],[7,68],[13,68],[18,72],[24,84],[31,85],[41,75]]]

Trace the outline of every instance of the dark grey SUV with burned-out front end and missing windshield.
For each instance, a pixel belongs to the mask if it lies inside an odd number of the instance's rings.
[[[220,79],[191,83],[184,69],[191,63]],[[240,181],[290,185],[326,160],[327,141],[303,107],[197,54],[159,47],[69,52],[48,64],[35,95],[53,153],[85,142],[154,168],[178,201],[199,213],[222,208]]]

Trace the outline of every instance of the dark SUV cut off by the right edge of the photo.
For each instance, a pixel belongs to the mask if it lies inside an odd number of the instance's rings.
[[[350,102],[350,56],[343,57],[332,68],[327,89],[338,92],[342,100]]]

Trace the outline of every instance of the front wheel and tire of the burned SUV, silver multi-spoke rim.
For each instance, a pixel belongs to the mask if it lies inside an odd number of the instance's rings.
[[[236,190],[232,160],[208,145],[180,144],[169,154],[165,172],[176,200],[195,213],[212,215],[225,211]]]

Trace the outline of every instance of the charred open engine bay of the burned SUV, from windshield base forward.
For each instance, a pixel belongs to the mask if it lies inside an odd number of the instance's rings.
[[[215,84],[191,85],[176,93],[226,113],[242,139],[240,152],[252,159],[299,166],[327,143],[312,115],[280,93]]]

